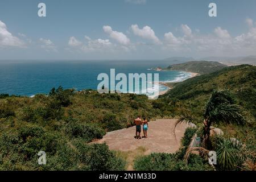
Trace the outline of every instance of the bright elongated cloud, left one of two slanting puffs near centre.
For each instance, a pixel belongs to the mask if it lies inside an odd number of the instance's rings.
[[[122,32],[113,31],[112,27],[110,26],[103,26],[103,30],[106,32],[106,34],[109,34],[110,38],[116,40],[118,43],[123,45],[130,44],[130,39],[127,38],[127,36]]]

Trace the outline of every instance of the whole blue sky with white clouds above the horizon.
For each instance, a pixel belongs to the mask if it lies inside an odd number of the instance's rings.
[[[249,55],[256,55],[255,0],[0,1],[0,60]]]

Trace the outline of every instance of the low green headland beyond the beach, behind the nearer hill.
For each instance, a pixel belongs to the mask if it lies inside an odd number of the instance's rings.
[[[227,65],[216,61],[189,61],[187,63],[172,64],[167,69],[194,72],[203,75],[218,71],[225,67],[227,67]]]

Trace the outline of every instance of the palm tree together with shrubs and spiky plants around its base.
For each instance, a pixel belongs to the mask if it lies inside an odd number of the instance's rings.
[[[134,167],[139,170],[207,170],[209,164],[205,159],[208,159],[210,151],[216,151],[217,163],[211,166],[212,169],[255,170],[254,142],[245,144],[237,138],[230,138],[229,133],[224,136],[211,128],[211,125],[218,123],[245,126],[247,120],[243,114],[241,107],[236,105],[228,91],[215,90],[204,107],[204,120],[197,124],[197,128],[188,128],[185,131],[182,140],[184,147],[180,148],[179,152],[144,156],[135,161]],[[186,111],[177,120],[176,125],[180,122],[195,123],[193,115]],[[255,122],[249,124],[255,126]],[[249,135],[255,141],[254,134],[255,130]],[[194,152],[198,152],[199,155],[195,155]]]

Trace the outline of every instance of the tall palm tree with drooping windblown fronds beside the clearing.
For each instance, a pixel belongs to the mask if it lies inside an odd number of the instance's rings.
[[[241,113],[240,106],[236,105],[233,97],[227,91],[214,91],[209,101],[205,105],[203,121],[203,147],[210,149],[210,126],[213,123],[237,123],[243,125],[246,121]],[[192,123],[193,118],[190,114],[184,113],[178,119],[175,127],[178,123],[186,122]],[[174,127],[174,133],[175,133]]]

